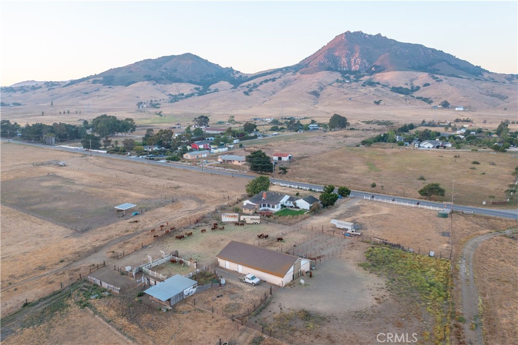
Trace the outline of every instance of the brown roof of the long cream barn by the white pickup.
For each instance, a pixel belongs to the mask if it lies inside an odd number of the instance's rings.
[[[216,257],[281,278],[299,259],[297,256],[237,241],[228,243]]]

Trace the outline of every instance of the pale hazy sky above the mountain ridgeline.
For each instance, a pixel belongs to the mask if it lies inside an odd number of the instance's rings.
[[[0,3],[0,84],[63,81],[193,53],[243,73],[293,65],[346,31],[518,73],[518,2]]]

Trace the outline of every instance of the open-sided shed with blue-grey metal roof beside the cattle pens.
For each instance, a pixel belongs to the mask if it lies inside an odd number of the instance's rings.
[[[148,294],[152,300],[166,306],[173,306],[185,297],[194,294],[197,285],[198,283],[195,280],[185,278],[182,275],[174,275],[161,283],[151,286],[144,293]]]

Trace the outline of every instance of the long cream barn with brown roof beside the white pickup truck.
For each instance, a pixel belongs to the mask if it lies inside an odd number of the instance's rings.
[[[220,267],[243,275],[253,274],[272,284],[284,286],[308,271],[310,260],[279,253],[247,243],[231,241],[216,255]]]

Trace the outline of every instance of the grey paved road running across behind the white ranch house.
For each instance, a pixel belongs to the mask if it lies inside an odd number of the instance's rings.
[[[153,164],[153,165],[161,165],[161,166],[167,166],[167,167],[175,167],[175,168],[180,168],[180,169],[185,169],[185,170],[197,171],[200,173],[203,172],[203,173],[210,173],[210,174],[217,174],[217,175],[239,177],[239,178],[244,178],[244,179],[254,179],[256,177],[255,175],[244,174],[243,172],[210,169],[210,168],[207,168],[204,166],[192,166],[192,165],[184,165],[184,164],[180,164],[180,163],[166,163],[166,162],[159,162],[159,161],[146,161],[146,160],[143,160],[143,159],[135,157],[135,156],[123,156],[123,155],[107,154],[107,153],[100,153],[100,152],[94,152],[94,151],[75,150],[75,149],[64,148],[64,147],[59,147],[59,146],[44,146],[39,143],[29,143],[29,142],[21,142],[21,143],[23,145],[45,147],[46,149],[89,153],[91,155],[102,156],[102,157],[106,157],[109,159],[118,159],[118,160],[125,160],[125,161],[137,162],[137,163],[142,163],[142,164]],[[270,181],[274,182],[274,183],[292,184],[292,185],[300,186],[301,188],[309,188],[309,189],[314,189],[314,190],[321,190],[323,188],[323,186],[319,185],[319,184],[282,180],[282,179],[278,179],[278,178],[270,178]],[[402,203],[417,204],[419,202],[420,205],[422,205],[422,206],[434,206],[434,207],[439,207],[439,208],[445,208],[445,204],[442,204],[442,203],[434,203],[434,202],[399,197],[399,196],[394,196],[394,195],[367,193],[367,192],[355,191],[355,190],[351,191],[351,196],[354,196],[357,198],[375,196],[375,198],[382,198],[382,199],[388,199],[388,200],[394,199],[395,201],[402,202]],[[450,205],[446,205],[446,207],[450,208]],[[481,207],[454,205],[454,210],[455,211],[473,212],[476,214],[483,214],[483,215],[491,215],[492,217],[518,219],[518,210],[517,209],[502,210],[502,209],[488,209],[488,208],[481,208]]]

